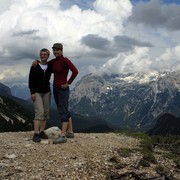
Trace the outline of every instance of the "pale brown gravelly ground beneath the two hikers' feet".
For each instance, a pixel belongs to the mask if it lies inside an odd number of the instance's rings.
[[[34,143],[33,132],[0,133],[0,179],[2,180],[111,180],[163,179],[157,164],[140,167],[139,151],[121,156],[122,148],[137,149],[139,140],[122,134],[77,133],[75,139],[54,145],[59,134],[48,129],[49,140]],[[157,156],[174,179],[180,179],[171,160]],[[164,178],[165,179],[165,178]]]

